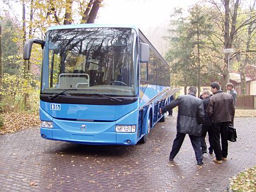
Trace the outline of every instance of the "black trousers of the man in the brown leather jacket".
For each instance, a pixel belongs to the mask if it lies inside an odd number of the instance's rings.
[[[213,150],[217,160],[221,160],[222,157],[227,157],[228,144],[227,144],[227,129],[229,122],[213,123]],[[221,137],[221,143],[220,143]]]

